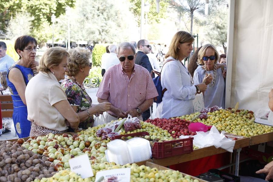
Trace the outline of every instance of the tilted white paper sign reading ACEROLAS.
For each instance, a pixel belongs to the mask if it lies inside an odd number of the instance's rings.
[[[69,159],[69,165],[71,171],[79,174],[82,178],[94,176],[91,164],[87,154],[80,155]]]

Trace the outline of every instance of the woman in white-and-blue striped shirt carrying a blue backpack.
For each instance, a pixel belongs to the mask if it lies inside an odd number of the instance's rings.
[[[177,32],[171,40],[165,65],[161,71],[161,86],[167,89],[157,106],[157,117],[170,118],[190,114],[195,94],[207,89],[204,83],[194,85],[187,68],[181,62],[193,50],[194,37],[185,31]],[[170,61],[169,61],[170,60]]]

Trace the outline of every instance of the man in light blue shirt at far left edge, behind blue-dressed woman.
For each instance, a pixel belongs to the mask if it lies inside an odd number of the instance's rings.
[[[12,66],[12,64],[14,63],[12,57],[8,56],[6,52],[7,52],[6,43],[0,41],[0,72],[7,72],[9,67]],[[3,90],[1,84],[0,90]]]

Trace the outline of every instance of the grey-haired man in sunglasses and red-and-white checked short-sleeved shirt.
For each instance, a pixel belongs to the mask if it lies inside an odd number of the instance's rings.
[[[147,69],[135,64],[136,49],[129,42],[117,46],[120,64],[109,68],[97,92],[98,102],[110,102],[106,122],[125,118],[130,114],[142,120],[142,112],[153,104],[158,96]]]

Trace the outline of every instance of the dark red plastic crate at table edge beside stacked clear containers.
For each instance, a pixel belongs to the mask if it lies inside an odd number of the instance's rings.
[[[172,147],[173,143],[178,142],[181,143],[180,147]],[[193,152],[193,137],[165,142],[155,142],[152,149],[152,157],[165,158],[191,152]]]

